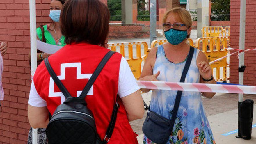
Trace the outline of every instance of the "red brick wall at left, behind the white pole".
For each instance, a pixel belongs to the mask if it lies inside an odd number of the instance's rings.
[[[50,1],[36,0],[38,25],[49,22]],[[29,27],[29,0],[0,0],[0,41],[8,44],[7,54],[3,56],[5,97],[0,108],[0,144],[25,144],[28,137]]]

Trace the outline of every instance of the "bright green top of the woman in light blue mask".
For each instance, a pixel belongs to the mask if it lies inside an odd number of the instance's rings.
[[[44,25],[44,30],[45,30],[45,39],[46,39],[46,43],[47,44],[51,44],[51,45],[58,45],[58,46],[65,46],[66,43],[64,42],[65,37],[61,36],[58,44],[56,44],[55,39],[53,38],[53,36],[51,35],[51,33],[48,31],[47,27],[48,25]],[[39,28],[36,29],[36,33],[37,33],[37,37],[39,38],[39,40],[42,40],[42,30]]]

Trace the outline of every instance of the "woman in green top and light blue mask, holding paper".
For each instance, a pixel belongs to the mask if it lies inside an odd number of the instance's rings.
[[[60,30],[60,14],[61,8],[66,0],[52,0],[50,4],[50,14],[51,23],[40,26],[36,29],[37,39],[51,45],[65,46],[65,37],[61,34]],[[45,58],[51,54],[44,53],[42,51],[37,51],[37,64],[39,65]],[[29,53],[29,61],[30,61]],[[38,129],[38,143],[47,144],[47,137],[45,129]],[[29,130],[28,144],[32,144],[32,128]]]

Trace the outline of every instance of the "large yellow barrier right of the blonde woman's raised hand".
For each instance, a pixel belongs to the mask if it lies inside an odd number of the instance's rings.
[[[226,56],[229,51],[224,48],[227,48],[229,46],[228,44],[229,36],[198,38],[196,41],[196,47],[205,53],[209,62]],[[229,80],[229,77],[227,77],[227,69],[229,68],[227,58],[211,64],[211,68],[216,81]],[[222,77],[220,75],[221,73]]]

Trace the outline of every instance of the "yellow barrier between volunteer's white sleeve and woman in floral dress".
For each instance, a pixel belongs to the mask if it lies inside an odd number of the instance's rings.
[[[141,55],[141,46],[144,46],[144,54]],[[136,57],[134,57],[133,46],[136,46]],[[125,43],[114,43],[109,44],[109,48],[112,51],[117,51],[117,48],[120,48],[120,54],[126,58],[131,71],[136,79],[141,75],[141,63],[147,58],[148,54],[148,45],[147,42],[125,42]],[[128,53],[128,56],[127,56]]]

